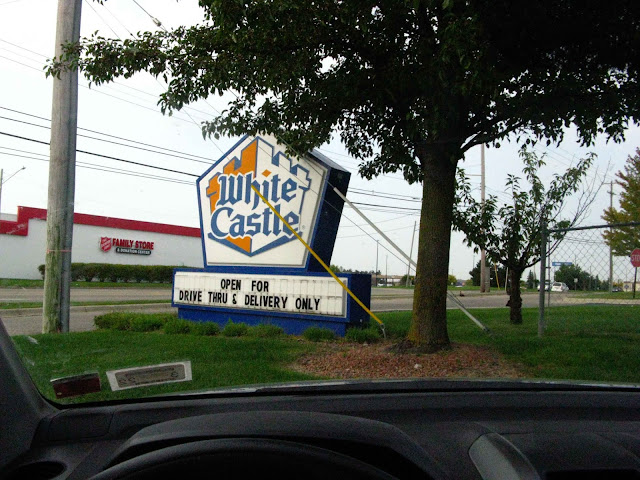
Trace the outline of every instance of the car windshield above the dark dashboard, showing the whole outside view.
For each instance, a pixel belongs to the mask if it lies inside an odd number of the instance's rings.
[[[47,399],[640,382],[629,12],[89,1],[64,50],[55,3],[0,4],[0,318]]]

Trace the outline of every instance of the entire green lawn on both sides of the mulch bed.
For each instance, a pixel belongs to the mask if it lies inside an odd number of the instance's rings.
[[[640,384],[640,308],[553,307],[547,309],[544,338],[537,337],[537,309],[523,310],[522,325],[509,323],[507,309],[477,309],[473,313],[491,334],[480,330],[462,312],[449,310],[452,342],[489,346],[518,365],[527,377]],[[385,322],[390,345],[406,335],[410,312],[379,316]],[[229,338],[109,330],[17,336],[14,341],[36,384],[49,398],[53,398],[52,378],[99,372],[103,391],[86,395],[82,401],[312,379],[288,369],[288,365],[317,348],[315,343],[288,336]],[[192,363],[192,382],[109,391],[106,370],[182,360]]]

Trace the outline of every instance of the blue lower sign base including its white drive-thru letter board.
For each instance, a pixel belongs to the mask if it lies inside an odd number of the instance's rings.
[[[340,274],[367,306],[371,275]],[[309,327],[344,336],[348,327],[369,325],[369,315],[327,273],[265,274],[264,270],[207,268],[174,272],[172,306],[196,322],[270,324],[300,335]]]

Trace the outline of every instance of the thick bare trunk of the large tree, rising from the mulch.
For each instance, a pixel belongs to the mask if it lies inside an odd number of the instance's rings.
[[[407,340],[420,351],[449,348],[447,279],[457,161],[445,149],[418,155],[424,172],[413,316]]]

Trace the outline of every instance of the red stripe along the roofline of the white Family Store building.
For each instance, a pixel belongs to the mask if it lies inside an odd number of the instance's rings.
[[[18,219],[15,222],[1,220],[0,234],[20,235],[26,237],[29,233],[29,220],[46,220],[47,210],[44,208],[18,207]],[[125,218],[103,217],[100,215],[88,215],[86,213],[74,213],[73,223],[77,225],[92,225],[94,227],[119,228],[123,230],[137,230],[140,232],[165,233],[167,235],[180,235],[183,237],[199,237],[200,229],[195,227],[181,227],[166,223],[140,222]]]

